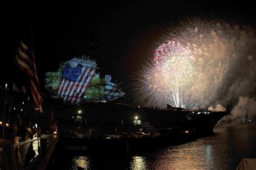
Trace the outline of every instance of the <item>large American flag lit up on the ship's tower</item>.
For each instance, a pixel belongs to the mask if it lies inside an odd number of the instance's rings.
[[[90,86],[95,73],[94,67],[78,64],[72,68],[69,63],[66,64],[56,93],[62,96],[65,102],[69,101],[70,104],[79,104]]]

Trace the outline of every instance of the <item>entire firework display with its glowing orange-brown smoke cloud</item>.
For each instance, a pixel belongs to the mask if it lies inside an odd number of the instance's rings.
[[[250,26],[207,19],[172,25],[151,63],[134,74],[134,99],[147,106],[230,105],[256,92],[256,35]]]

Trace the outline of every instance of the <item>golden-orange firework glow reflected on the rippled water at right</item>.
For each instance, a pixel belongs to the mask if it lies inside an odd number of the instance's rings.
[[[256,123],[215,130],[209,137],[147,153],[144,164],[150,169],[235,169],[242,158],[256,158],[255,129]]]

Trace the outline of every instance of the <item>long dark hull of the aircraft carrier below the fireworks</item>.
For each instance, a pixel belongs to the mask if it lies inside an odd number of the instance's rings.
[[[213,132],[214,125],[226,114],[225,112],[211,112],[206,115],[197,115],[196,112],[181,110],[180,108],[149,108],[117,103],[84,103],[65,110],[65,113],[63,112],[63,115],[69,115],[69,117],[59,117],[60,130],[67,128],[66,123],[62,124],[62,120],[71,119],[73,115],[77,116],[78,110],[81,111],[79,116],[83,118],[79,126],[85,126],[85,130],[93,138],[104,138],[105,134],[116,132],[131,134],[143,131],[149,133],[149,127],[142,126],[142,124],[148,124],[154,130],[175,128],[184,132],[189,130],[207,134]],[[72,120],[70,121],[72,124]],[[70,128],[72,127],[71,125]],[[75,131],[79,132],[77,129]]]

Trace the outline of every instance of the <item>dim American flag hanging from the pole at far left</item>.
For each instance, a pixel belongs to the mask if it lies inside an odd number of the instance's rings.
[[[19,69],[26,72],[30,78],[30,85],[32,91],[33,101],[37,110],[43,113],[43,97],[39,88],[39,81],[37,78],[37,70],[35,64],[35,57],[33,55],[33,50],[31,48],[31,40],[26,40],[25,36],[23,36],[21,45],[18,47],[16,59],[17,65]]]

